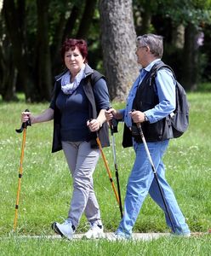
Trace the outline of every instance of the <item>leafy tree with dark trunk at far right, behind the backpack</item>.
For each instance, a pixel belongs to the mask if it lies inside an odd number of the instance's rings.
[[[200,73],[197,40],[202,25],[211,23],[211,1],[166,0],[161,9],[163,15],[170,17],[173,27],[185,27],[181,82],[186,90],[196,90]]]

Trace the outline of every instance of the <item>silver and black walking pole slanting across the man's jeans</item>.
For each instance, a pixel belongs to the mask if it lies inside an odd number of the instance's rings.
[[[134,111],[134,109],[132,110],[132,112],[133,112],[133,111]],[[154,173],[154,177],[156,178],[157,186],[158,186],[158,189],[160,190],[160,193],[161,193],[161,196],[162,196],[162,199],[163,199],[163,203],[164,203],[166,212],[167,212],[167,214],[168,214],[168,218],[169,218],[170,223],[171,223],[171,226],[172,226],[172,230],[173,230],[173,232],[175,232],[175,230],[174,230],[174,225],[173,225],[173,221],[172,221],[172,218],[171,218],[171,216],[170,216],[170,212],[168,211],[168,206],[167,206],[165,197],[164,197],[164,195],[163,195],[163,189],[161,188],[161,185],[160,185],[160,183],[159,183],[159,180],[158,180],[158,177],[157,177],[156,168],[155,168],[155,166],[154,166],[154,164],[153,164],[153,161],[152,161],[152,159],[151,159],[151,154],[150,154],[149,148],[148,148],[148,146],[147,146],[147,143],[145,142],[144,133],[143,133],[143,131],[142,131],[142,128],[141,128],[140,123],[137,123],[136,125],[137,125],[138,131],[139,131],[139,133],[140,133],[140,137],[141,137],[142,142],[143,142],[144,147],[145,147],[145,153],[147,154],[147,157],[148,157],[148,159],[150,160],[151,169],[152,169],[152,172]]]

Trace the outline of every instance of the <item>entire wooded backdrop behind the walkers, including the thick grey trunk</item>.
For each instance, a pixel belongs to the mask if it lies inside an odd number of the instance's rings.
[[[210,38],[211,0],[133,0],[133,8],[132,0],[0,0],[0,9],[2,3],[3,100],[14,100],[15,91],[21,90],[27,101],[48,101],[53,76],[64,68],[60,46],[65,38],[87,39],[88,61],[106,74],[111,100],[124,100],[139,68],[134,25],[139,35],[163,35],[163,60],[174,68],[185,89],[195,89],[202,73],[206,72],[204,78],[211,76],[209,44],[203,48],[197,44],[201,32],[205,41]]]

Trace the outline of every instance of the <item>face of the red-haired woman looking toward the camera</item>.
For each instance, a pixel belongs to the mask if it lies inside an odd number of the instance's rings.
[[[70,70],[72,75],[77,75],[83,67],[84,61],[85,58],[83,58],[83,55],[81,55],[81,52],[77,47],[73,50],[69,49],[65,53],[66,67]]]

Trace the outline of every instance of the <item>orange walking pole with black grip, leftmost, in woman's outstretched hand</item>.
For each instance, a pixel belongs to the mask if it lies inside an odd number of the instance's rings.
[[[26,112],[29,112],[29,110],[26,109]],[[20,171],[19,171],[18,191],[17,191],[17,198],[16,198],[15,212],[14,212],[14,231],[16,230],[17,219],[18,219],[18,208],[19,208],[19,199],[20,199],[20,183],[21,183],[21,177],[22,177],[22,173],[23,173],[24,149],[25,149],[25,145],[26,145],[26,128],[28,125],[31,125],[30,119],[28,121],[26,121],[25,123],[22,123],[20,129],[15,130],[18,133],[21,133],[23,131],[23,139],[22,139],[21,154],[20,154]]]

